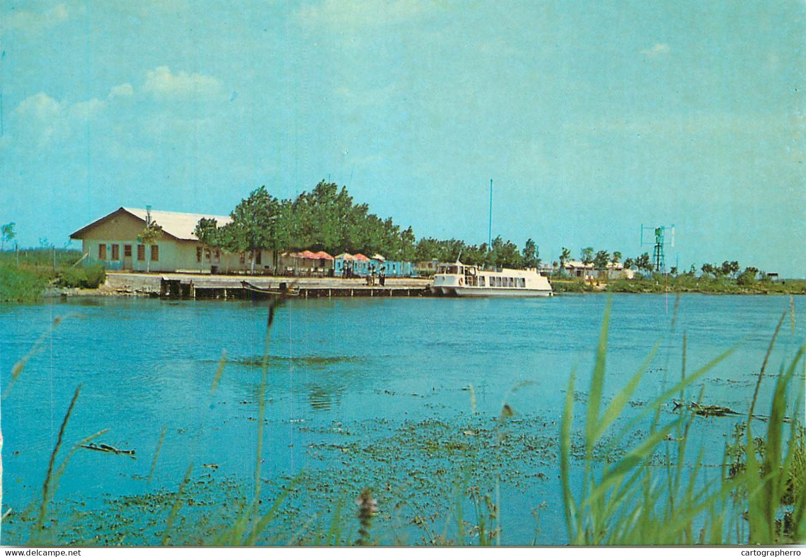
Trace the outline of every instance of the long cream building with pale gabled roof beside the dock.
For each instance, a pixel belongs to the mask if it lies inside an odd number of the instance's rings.
[[[199,215],[189,212],[152,211],[151,219],[162,227],[163,237],[156,245],[138,241],[146,226],[148,212],[141,208],[121,207],[84,228],[70,234],[81,240],[82,251],[91,262],[99,262],[110,270],[162,272],[239,272],[251,270],[250,254],[225,254],[208,248],[193,234],[202,218],[215,219],[218,225],[231,222],[231,217]],[[272,251],[256,253],[255,270],[270,270]]]

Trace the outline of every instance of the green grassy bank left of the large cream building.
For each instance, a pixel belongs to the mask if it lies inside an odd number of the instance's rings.
[[[78,250],[20,250],[0,252],[0,302],[35,302],[48,285],[97,288],[106,280],[100,265],[73,265]]]

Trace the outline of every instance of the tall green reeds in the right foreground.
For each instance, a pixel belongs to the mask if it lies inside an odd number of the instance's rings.
[[[792,489],[787,491],[787,485],[791,485],[792,477],[798,477],[803,473],[802,468],[800,471],[794,470],[796,464],[803,461],[802,444],[800,448],[796,444],[798,425],[793,423],[795,420],[784,419],[784,415],[787,408],[787,392],[794,385],[795,369],[803,357],[804,347],[796,353],[791,365],[785,373],[781,373],[776,383],[767,423],[765,438],[767,450],[763,460],[756,459],[752,435],[748,435],[746,469],[733,476],[727,473],[729,450],[726,447],[720,466],[720,477],[709,479],[702,476],[704,458],[702,449],[696,456],[693,466],[688,464],[688,433],[695,415],[686,408],[687,405],[683,405],[681,406],[683,410],[677,418],[663,423],[659,410],[661,406],[671,402],[671,397],[675,393],[683,394],[687,386],[724,360],[736,347],[688,375],[685,372],[685,350],[683,350],[680,381],[649,402],[644,411],[625,426],[613,427],[621,417],[625,403],[638,386],[646,364],[638,369],[638,373],[605,406],[604,411],[601,411],[604,406],[602,387],[605,381],[609,310],[608,303],[596,349],[584,420],[584,475],[580,489],[574,489],[571,482],[575,373],[571,374],[563,411],[560,468],[563,507],[570,543],[718,544],[728,542],[734,535],[741,541],[750,543],[789,543],[803,539],[804,494],[801,490],[801,493],[791,497],[788,501],[788,508],[791,510],[787,511],[782,510],[782,493],[794,493]],[[776,328],[767,357],[782,322],[783,317]],[[654,350],[646,363],[653,356]],[[767,358],[759,372],[759,383],[766,365]],[[802,389],[800,391],[802,392]],[[748,412],[748,430],[757,397],[758,385]],[[596,452],[612,453],[621,443],[621,439],[634,433],[634,427],[639,421],[646,419],[650,419],[650,429],[645,439],[628,448],[625,456],[615,463],[600,464]],[[783,440],[787,439],[785,433],[787,427],[790,428],[789,443],[784,450]],[[662,467],[655,466],[653,458],[663,452],[660,450],[661,444],[670,441],[671,434],[675,431],[678,435],[674,439],[678,443],[676,460],[672,461],[667,457]],[[609,440],[603,440],[606,437]],[[741,493],[746,493],[746,497],[741,497]],[[740,495],[737,497],[737,494]],[[749,536],[746,540],[742,540],[740,521],[745,515],[745,508]],[[785,520],[788,521],[786,529],[782,526]]]

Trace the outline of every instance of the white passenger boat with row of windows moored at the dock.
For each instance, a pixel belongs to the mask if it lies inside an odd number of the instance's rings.
[[[438,266],[432,294],[456,296],[550,296],[548,278],[534,269],[482,270],[462,262]]]

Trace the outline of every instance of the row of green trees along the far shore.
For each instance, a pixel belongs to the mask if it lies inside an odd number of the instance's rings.
[[[280,200],[261,186],[241,200],[231,212],[231,219],[231,222],[219,225],[215,219],[203,218],[198,221],[195,234],[207,247],[233,254],[251,254],[253,265],[258,250],[272,250],[275,254],[299,250],[381,254],[397,261],[452,262],[461,258],[471,265],[513,269],[542,265],[538,246],[531,238],[522,250],[501,236],[496,237],[491,245],[486,242],[467,244],[456,238],[422,237],[418,240],[411,226],[402,229],[391,217],[378,217],[369,212],[367,204],[355,203],[347,188],[339,188],[325,180],[311,192],[302,192],[293,200]],[[142,241],[152,243],[160,232],[156,223],[149,223],[143,231]],[[561,270],[570,260],[571,250],[563,247],[559,261],[551,262],[550,266]],[[655,270],[648,252],[634,258],[623,258],[620,251],[611,253],[586,247],[580,250],[580,261],[597,269],[621,263],[625,269],[647,273]],[[706,263],[701,270],[715,278],[730,276],[746,280],[754,279],[759,272],[755,267],[747,267],[740,274],[735,261],[721,265]],[[674,266],[670,272],[678,274]],[[694,273],[695,267],[692,266],[685,274]]]

